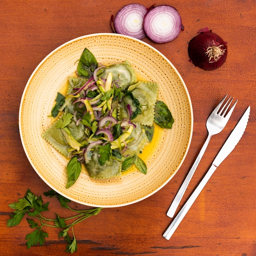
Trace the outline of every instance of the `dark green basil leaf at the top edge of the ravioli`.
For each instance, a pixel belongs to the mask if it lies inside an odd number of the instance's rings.
[[[77,74],[85,78],[90,78],[97,67],[98,62],[96,58],[87,48],[85,48],[77,65]]]

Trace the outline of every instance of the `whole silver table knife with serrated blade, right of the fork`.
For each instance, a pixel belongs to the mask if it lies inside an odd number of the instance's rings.
[[[195,202],[198,195],[201,193],[202,189],[210,179],[211,175],[213,175],[214,171],[217,169],[217,167],[223,162],[223,160],[232,152],[232,150],[235,148],[235,146],[240,141],[241,137],[243,136],[245,132],[245,128],[247,126],[248,120],[250,115],[250,106],[247,108],[241,119],[238,121],[238,124],[234,128],[234,130],[231,132],[227,140],[225,141],[224,145],[220,149],[219,153],[213,160],[211,167],[207,171],[207,173],[204,175],[203,179],[200,181],[196,189],[193,191],[189,199],[186,201],[182,209],[179,211],[177,216],[173,219],[171,222],[171,225],[166,229],[163,236],[167,240],[171,238],[177,227],[180,225],[180,222],[182,222],[184,216],[189,211],[190,207],[192,206],[193,202]]]

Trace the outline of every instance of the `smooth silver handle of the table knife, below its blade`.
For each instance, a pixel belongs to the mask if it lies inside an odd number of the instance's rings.
[[[195,202],[198,195],[201,193],[202,189],[210,179],[211,175],[213,175],[214,171],[216,170],[217,166],[211,165],[207,173],[204,175],[201,182],[198,184],[194,192],[191,194],[189,199],[186,201],[182,209],[179,211],[177,216],[173,219],[171,222],[171,225],[166,229],[163,236],[167,240],[171,238],[177,227],[180,225],[180,222],[182,222],[183,218],[185,217],[186,213],[189,211],[190,207],[192,206],[193,202]]]

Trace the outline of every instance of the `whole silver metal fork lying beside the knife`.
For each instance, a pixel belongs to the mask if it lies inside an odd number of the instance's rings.
[[[184,182],[183,182],[182,186],[180,187],[177,195],[175,196],[168,212],[166,213],[166,215],[168,217],[173,218],[174,213],[175,213],[178,205],[180,204],[182,196],[184,195],[184,193],[186,191],[186,188],[189,185],[189,182],[190,182],[193,174],[195,173],[195,169],[198,167],[198,164],[199,164],[200,160],[202,159],[202,156],[204,155],[204,152],[205,152],[205,150],[206,150],[206,148],[209,144],[209,141],[210,141],[211,137],[223,130],[223,128],[226,126],[227,121],[229,120],[229,118],[230,118],[230,116],[231,116],[231,114],[232,114],[232,112],[233,112],[233,110],[236,106],[237,100],[234,103],[234,105],[230,108],[229,112],[227,113],[227,110],[229,109],[229,106],[230,106],[230,104],[231,104],[231,102],[233,101],[234,98],[231,99],[231,97],[229,97],[227,102],[222,106],[222,104],[223,104],[223,102],[225,101],[226,98],[227,98],[227,95],[222,99],[222,101],[220,101],[218,106],[213,110],[213,112],[211,113],[211,115],[207,119],[207,122],[206,122],[206,128],[208,130],[207,139],[204,142],[204,145],[202,146],[202,148],[201,148],[201,150],[198,154],[198,157],[195,159],[195,162],[194,162],[193,166],[191,167],[188,175],[186,176],[186,179],[184,180]],[[221,108],[221,106],[222,106],[222,108]],[[227,115],[226,115],[226,113],[227,113]]]

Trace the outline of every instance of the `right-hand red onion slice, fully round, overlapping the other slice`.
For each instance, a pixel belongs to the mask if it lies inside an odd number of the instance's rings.
[[[182,30],[180,13],[170,5],[153,7],[144,17],[144,30],[156,43],[175,39]]]

